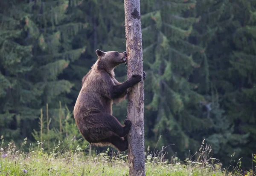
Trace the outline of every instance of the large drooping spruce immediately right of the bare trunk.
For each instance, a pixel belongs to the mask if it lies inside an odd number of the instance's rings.
[[[155,4],[153,6],[153,4]],[[148,142],[157,147],[169,146],[171,154],[195,151],[200,146],[202,128],[207,119],[198,116],[199,103],[204,97],[198,93],[199,82],[190,80],[198,71],[207,82],[207,62],[203,48],[189,43],[192,25],[198,18],[187,15],[195,1],[148,0],[142,4],[143,58],[145,80],[145,127]],[[196,56],[196,57],[195,57]],[[204,68],[204,69],[201,69]],[[149,83],[151,82],[151,84]],[[195,135],[190,135],[191,133]],[[145,146],[149,143],[145,143]]]

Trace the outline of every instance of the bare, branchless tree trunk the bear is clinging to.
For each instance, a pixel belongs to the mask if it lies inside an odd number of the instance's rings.
[[[127,51],[127,76],[140,74],[143,77],[142,34],[140,0],[125,2],[125,39]],[[128,162],[130,176],[145,176],[144,153],[144,87],[143,79],[128,92],[128,119],[131,130],[128,134]]]

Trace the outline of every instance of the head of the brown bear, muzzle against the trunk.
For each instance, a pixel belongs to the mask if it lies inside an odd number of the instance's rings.
[[[117,65],[125,63],[127,61],[126,51],[119,53],[117,51],[101,51],[96,50],[98,56],[98,65],[107,70],[115,68]]]

